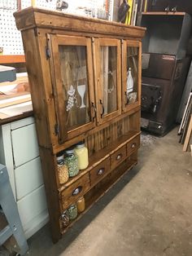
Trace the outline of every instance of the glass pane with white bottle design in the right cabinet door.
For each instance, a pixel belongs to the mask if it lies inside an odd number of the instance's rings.
[[[127,103],[137,101],[138,87],[138,47],[127,47]]]

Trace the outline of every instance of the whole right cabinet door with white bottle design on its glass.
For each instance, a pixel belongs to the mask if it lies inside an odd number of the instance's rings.
[[[123,64],[123,111],[141,104],[141,45],[140,42],[124,41]]]

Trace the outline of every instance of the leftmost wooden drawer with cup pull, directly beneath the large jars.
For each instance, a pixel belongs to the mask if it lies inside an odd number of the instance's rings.
[[[68,188],[61,192],[61,200],[63,210],[66,210],[69,205],[74,204],[79,197],[83,196],[89,190],[89,173],[85,174],[75,183],[72,183]]]

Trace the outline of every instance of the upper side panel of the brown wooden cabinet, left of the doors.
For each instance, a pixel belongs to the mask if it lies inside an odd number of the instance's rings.
[[[37,126],[38,143],[45,148],[50,148],[51,137],[54,133],[52,118],[54,118],[55,115],[50,110],[54,104],[53,95],[50,90],[51,82],[49,61],[46,60],[45,52],[44,59],[47,61],[46,64],[42,59],[41,52],[39,51],[39,40],[34,29],[22,31],[22,38],[24,42],[28,81]],[[46,51],[46,44],[44,49]],[[50,90],[50,93],[47,93],[47,90]]]

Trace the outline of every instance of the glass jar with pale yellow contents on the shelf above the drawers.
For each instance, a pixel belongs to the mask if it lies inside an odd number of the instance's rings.
[[[84,170],[89,166],[88,149],[85,147],[83,141],[76,144],[75,148],[76,156],[78,157],[79,170]]]

